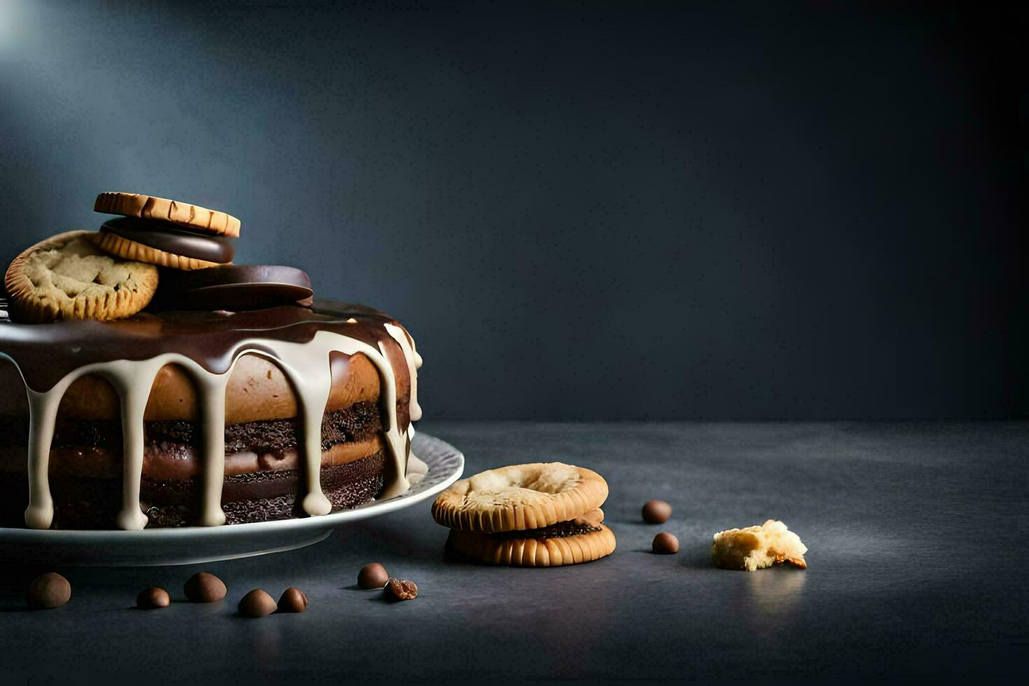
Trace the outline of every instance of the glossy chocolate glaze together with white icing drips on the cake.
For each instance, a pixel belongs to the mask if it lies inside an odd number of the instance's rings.
[[[409,489],[411,422],[421,416],[416,384],[421,358],[406,331],[378,311],[316,302],[311,309],[140,313],[110,322],[3,322],[0,357],[19,369],[29,401],[26,525],[48,529],[52,523],[47,469],[58,407],[75,380],[96,374],[110,383],[120,402],[123,473],[117,525],[121,529],[146,526],[140,508],[146,441],[143,414],[154,376],[167,364],[186,371],[200,398],[200,421],[190,428],[200,434],[190,434],[190,440],[200,447],[203,462],[200,521],[224,523],[225,386],[243,355],[270,360],[289,381],[297,404],[298,482],[303,484],[298,509],[308,515],[328,513],[332,502],[320,481],[321,429],[331,390],[329,356],[333,353],[363,355],[376,367],[382,385],[379,404],[387,457],[382,497],[403,493]],[[405,398],[400,397],[401,389],[410,389]]]

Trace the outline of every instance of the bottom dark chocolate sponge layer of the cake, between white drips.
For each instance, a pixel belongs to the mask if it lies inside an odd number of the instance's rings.
[[[345,465],[322,467],[322,492],[333,510],[349,509],[372,500],[382,492],[386,458],[382,450]],[[120,479],[51,478],[55,529],[114,529],[121,503]],[[154,481],[144,478],[140,502],[153,527],[196,525],[201,493],[199,478]],[[226,523],[269,521],[296,516],[299,491],[295,469],[264,470],[226,477],[221,506]],[[28,483],[23,477],[0,482],[0,526],[22,528]]]

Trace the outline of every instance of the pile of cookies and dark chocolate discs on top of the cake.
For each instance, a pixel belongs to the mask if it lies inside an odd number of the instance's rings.
[[[50,237],[11,262],[4,286],[12,319],[120,319],[155,297],[165,309],[310,304],[300,269],[232,264],[240,220],[229,214],[122,192],[100,193],[94,210],[120,216],[99,231]]]

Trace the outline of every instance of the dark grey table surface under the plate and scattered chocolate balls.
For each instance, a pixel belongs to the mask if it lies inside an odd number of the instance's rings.
[[[292,552],[203,566],[64,569],[64,608],[21,611],[38,570],[5,561],[2,680],[145,683],[375,679],[684,679],[739,683],[1021,675],[1029,604],[1029,423],[423,423],[465,452],[465,474],[563,461],[610,484],[618,548],[556,569],[445,557],[429,504]],[[642,523],[648,498],[675,508]],[[712,533],[781,518],[807,571],[713,569]],[[677,555],[649,552],[675,533]],[[380,561],[419,585],[388,604],[353,586]],[[131,609],[136,592],[206,569],[224,602]],[[236,603],[297,585],[303,615]]]

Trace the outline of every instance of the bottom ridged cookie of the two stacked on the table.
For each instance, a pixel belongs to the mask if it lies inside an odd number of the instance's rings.
[[[614,552],[614,532],[600,531],[562,538],[498,539],[489,534],[451,530],[450,544],[461,554],[491,565],[560,567],[581,565]]]

